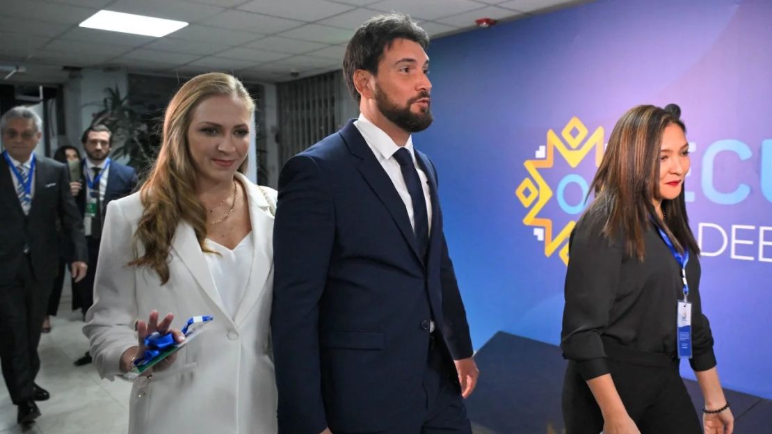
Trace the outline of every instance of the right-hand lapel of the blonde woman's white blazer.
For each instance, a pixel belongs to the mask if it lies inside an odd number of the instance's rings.
[[[241,174],[237,174],[244,185],[249,201],[249,221],[252,222],[252,270],[244,290],[241,303],[236,309],[233,322],[236,327],[243,322],[255,303],[266,291],[266,280],[273,270],[273,216],[270,215],[268,202],[256,185]]]

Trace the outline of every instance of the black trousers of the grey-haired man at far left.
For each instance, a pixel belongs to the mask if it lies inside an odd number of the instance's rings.
[[[36,280],[26,255],[14,278],[0,282],[0,364],[8,395],[16,405],[31,401],[34,395],[40,330],[51,285],[51,280]]]

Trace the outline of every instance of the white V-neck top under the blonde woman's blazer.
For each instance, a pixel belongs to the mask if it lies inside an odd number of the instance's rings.
[[[204,256],[217,292],[220,293],[222,305],[231,318],[235,317],[236,310],[238,310],[242,297],[244,297],[247,283],[249,283],[254,244],[252,232],[249,232],[232,250],[211,239],[206,239],[208,248],[219,253],[219,255],[204,253]]]

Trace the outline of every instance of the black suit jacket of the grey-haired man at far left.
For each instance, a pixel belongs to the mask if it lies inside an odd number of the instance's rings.
[[[73,261],[86,262],[86,238],[83,219],[69,190],[66,165],[36,155],[35,193],[29,214],[24,215],[16,195],[11,171],[0,158],[0,279],[15,276],[24,246],[29,246],[32,271],[38,280],[52,280],[59,272],[59,236],[57,222],[73,243]]]

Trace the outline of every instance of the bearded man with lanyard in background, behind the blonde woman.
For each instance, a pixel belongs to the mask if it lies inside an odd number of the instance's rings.
[[[89,251],[89,270],[86,278],[73,286],[73,309],[80,307],[83,316],[93,304],[94,277],[97,273],[102,222],[110,201],[130,195],[137,187],[137,172],[124,164],[112,161],[110,146],[112,132],[104,125],[92,125],[83,131],[80,142],[86,151],[83,158],[83,188],[76,196],[78,209],[86,228]],[[76,366],[91,363],[91,354],[75,361]]]

